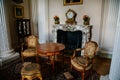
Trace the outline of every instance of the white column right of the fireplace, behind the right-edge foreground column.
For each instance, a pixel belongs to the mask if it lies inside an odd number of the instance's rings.
[[[103,53],[113,53],[119,0],[103,0],[100,31],[100,48]]]

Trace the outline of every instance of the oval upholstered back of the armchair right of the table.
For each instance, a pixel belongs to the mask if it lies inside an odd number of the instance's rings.
[[[94,41],[86,42],[84,55],[87,55],[88,58],[92,59],[96,54],[97,48],[98,44],[96,42]]]

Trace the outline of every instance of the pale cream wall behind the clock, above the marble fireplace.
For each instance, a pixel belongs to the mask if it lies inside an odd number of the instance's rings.
[[[78,25],[83,24],[83,15],[90,16],[90,24],[93,25],[92,40],[99,41],[100,21],[101,21],[102,0],[83,0],[79,5],[63,5],[63,0],[49,0],[49,32],[52,33],[54,24],[53,17],[60,17],[60,23],[65,24],[65,13],[68,9],[73,9],[77,13],[76,21]],[[51,37],[52,38],[52,37]]]

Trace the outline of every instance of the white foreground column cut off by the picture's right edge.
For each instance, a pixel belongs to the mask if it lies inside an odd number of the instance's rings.
[[[112,55],[112,62],[110,68],[109,78],[110,80],[120,80],[120,1],[118,0],[118,19],[117,28],[116,28],[116,36],[115,36],[115,44]]]

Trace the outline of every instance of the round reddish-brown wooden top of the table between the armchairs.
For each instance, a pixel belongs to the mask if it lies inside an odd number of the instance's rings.
[[[38,54],[56,53],[65,49],[65,45],[61,43],[43,43],[37,46]]]

